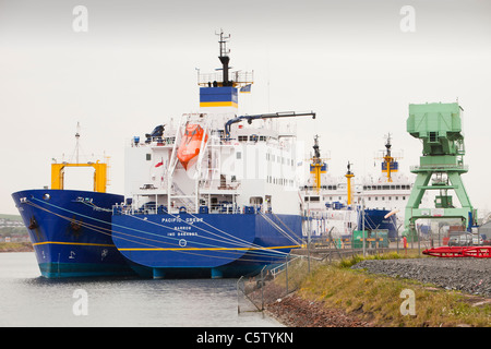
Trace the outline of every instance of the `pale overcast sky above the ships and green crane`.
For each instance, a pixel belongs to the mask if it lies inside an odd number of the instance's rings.
[[[410,174],[421,144],[406,132],[408,105],[458,98],[464,182],[474,206],[491,208],[491,1],[0,0],[0,213],[17,213],[12,192],[49,184],[77,122],[83,152],[111,156],[109,191],[123,193],[124,143],[197,111],[195,69],[219,67],[220,28],[230,64],[254,70],[242,112],[314,110],[299,137],[320,135],[333,176],[347,161],[378,173],[387,133]]]

